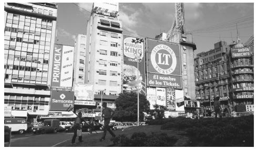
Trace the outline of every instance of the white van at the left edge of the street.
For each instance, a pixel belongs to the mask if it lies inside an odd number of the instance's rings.
[[[12,128],[12,132],[18,131],[23,134],[27,131],[27,120],[23,118],[4,118],[4,125]]]

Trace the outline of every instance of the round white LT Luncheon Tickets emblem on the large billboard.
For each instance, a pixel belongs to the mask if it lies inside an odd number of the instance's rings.
[[[151,63],[161,74],[171,74],[177,65],[175,52],[165,44],[158,44],[151,52]]]

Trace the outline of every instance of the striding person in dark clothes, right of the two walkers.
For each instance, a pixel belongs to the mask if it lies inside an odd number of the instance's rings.
[[[116,137],[116,135],[114,134],[114,132],[112,132],[109,128],[109,123],[110,123],[110,119],[112,118],[112,116],[114,115],[114,111],[110,108],[107,107],[107,103],[103,102],[103,111],[101,113],[101,117],[104,118],[104,132],[103,135],[100,139],[100,141],[105,140],[105,136],[107,134],[107,131],[112,135],[112,137]]]

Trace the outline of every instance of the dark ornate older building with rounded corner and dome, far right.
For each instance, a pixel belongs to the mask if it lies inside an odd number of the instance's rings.
[[[213,109],[213,99],[218,96],[223,109],[228,102],[231,110],[235,110],[236,105],[253,105],[253,100],[250,100],[253,99],[253,56],[231,56],[231,48],[242,47],[240,39],[231,45],[220,41],[214,44],[214,49],[197,54],[194,59],[196,97],[201,101],[204,110]],[[245,99],[245,96],[239,95],[252,96]]]

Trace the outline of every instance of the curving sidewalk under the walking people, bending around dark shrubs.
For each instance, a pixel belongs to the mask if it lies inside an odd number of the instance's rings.
[[[116,136],[121,135],[121,134],[126,134],[127,137],[131,137],[131,135],[134,132],[145,132],[147,135],[150,135],[152,132],[154,133],[166,133],[169,136],[176,136],[178,141],[176,142],[175,146],[186,146],[186,144],[189,142],[189,138],[184,135],[185,132],[183,131],[176,131],[176,130],[160,130],[161,125],[141,125],[138,127],[130,127],[125,129],[124,131],[122,130],[114,130],[113,132],[116,134]],[[93,134],[83,134],[83,140],[84,142],[79,143],[78,142],[78,137],[76,139],[76,144],[71,145],[71,138],[70,140],[67,140],[63,143],[60,143],[56,145],[55,147],[106,147],[110,146],[113,144],[112,141],[110,141],[111,135],[109,132],[107,132],[106,135],[106,140],[105,141],[99,141],[101,138],[101,133],[93,133]]]

